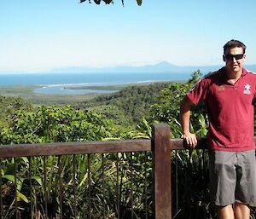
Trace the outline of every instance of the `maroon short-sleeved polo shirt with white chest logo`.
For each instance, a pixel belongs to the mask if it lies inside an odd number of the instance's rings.
[[[246,151],[253,141],[256,74],[242,69],[241,78],[230,84],[225,68],[202,78],[187,96],[195,105],[205,101],[209,118],[210,147],[220,151]]]

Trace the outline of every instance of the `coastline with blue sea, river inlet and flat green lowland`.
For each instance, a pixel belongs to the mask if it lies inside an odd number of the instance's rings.
[[[20,97],[33,105],[73,105],[127,86],[185,82],[189,75],[166,72],[0,75],[0,95]]]

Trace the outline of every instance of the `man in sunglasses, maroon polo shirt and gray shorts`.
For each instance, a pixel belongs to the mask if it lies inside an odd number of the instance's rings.
[[[202,78],[183,98],[180,118],[183,139],[197,144],[190,133],[192,105],[207,106],[210,146],[210,191],[220,219],[249,219],[256,204],[256,161],[253,141],[256,75],[243,68],[246,46],[238,40],[224,45],[225,66]]]

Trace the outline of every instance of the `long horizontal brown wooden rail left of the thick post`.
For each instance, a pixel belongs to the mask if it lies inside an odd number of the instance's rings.
[[[148,139],[126,141],[84,141],[0,146],[0,158],[151,151]]]

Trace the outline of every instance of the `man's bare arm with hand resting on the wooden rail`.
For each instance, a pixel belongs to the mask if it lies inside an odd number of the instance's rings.
[[[183,139],[187,142],[190,148],[194,148],[197,144],[195,134],[190,133],[189,129],[190,109],[192,105],[192,101],[190,101],[187,96],[183,98],[183,101],[180,104],[180,121],[183,131]]]

